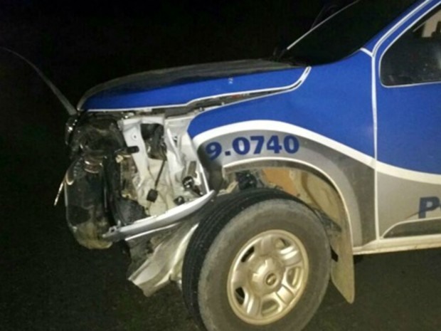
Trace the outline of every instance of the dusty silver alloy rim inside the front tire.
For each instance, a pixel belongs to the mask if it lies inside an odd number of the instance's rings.
[[[284,230],[257,234],[243,245],[228,273],[228,303],[241,320],[266,325],[287,315],[307,284],[302,242]]]

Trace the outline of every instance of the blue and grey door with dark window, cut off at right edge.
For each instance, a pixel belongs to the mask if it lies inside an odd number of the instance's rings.
[[[380,43],[373,94],[377,236],[441,234],[440,1]]]

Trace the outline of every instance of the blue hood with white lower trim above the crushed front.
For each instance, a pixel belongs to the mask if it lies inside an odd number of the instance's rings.
[[[85,93],[78,110],[179,107],[213,96],[285,88],[302,72],[287,63],[264,60],[152,70],[97,85]]]

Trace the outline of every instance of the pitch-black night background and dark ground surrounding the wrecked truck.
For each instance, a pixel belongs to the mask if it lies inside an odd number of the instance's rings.
[[[270,56],[312,23],[319,0],[0,0],[0,46],[18,51],[75,103],[117,76]],[[63,107],[0,51],[0,331],[196,330],[174,286],[152,298],[125,280],[115,245],[87,251],[53,207],[68,166]],[[440,250],[366,256],[356,303],[329,286],[307,331],[439,330]]]

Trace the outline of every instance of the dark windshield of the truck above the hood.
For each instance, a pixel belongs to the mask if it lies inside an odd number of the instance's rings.
[[[295,41],[280,60],[302,65],[339,61],[363,47],[416,1],[355,1]]]

